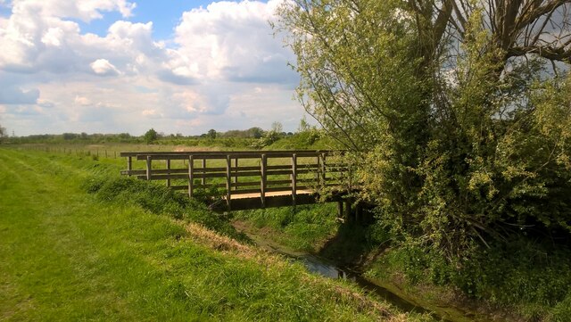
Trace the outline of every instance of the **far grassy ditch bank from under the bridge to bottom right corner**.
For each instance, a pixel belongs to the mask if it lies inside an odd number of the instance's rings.
[[[565,322],[571,317],[571,252],[562,245],[539,236],[519,238],[491,243],[455,262],[402,241],[380,225],[342,225],[333,208],[244,211],[236,219],[272,243],[355,266],[430,310],[457,308],[456,313],[494,321]]]

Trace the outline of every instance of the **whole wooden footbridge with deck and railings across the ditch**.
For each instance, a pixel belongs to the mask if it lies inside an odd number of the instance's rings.
[[[214,211],[240,211],[295,206],[319,201],[320,192],[333,191],[339,201],[347,189],[340,185],[349,171],[334,151],[126,152],[122,175],[163,180],[191,198],[210,200]]]

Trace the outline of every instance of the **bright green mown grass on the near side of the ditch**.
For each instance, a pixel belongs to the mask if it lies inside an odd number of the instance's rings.
[[[122,163],[0,149],[0,319],[418,319],[190,223],[202,215],[86,192]]]

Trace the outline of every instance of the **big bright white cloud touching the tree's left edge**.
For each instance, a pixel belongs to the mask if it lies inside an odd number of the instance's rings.
[[[285,68],[294,54],[272,35],[269,21],[276,19],[282,0],[240,3],[222,1],[183,14],[176,28],[178,54],[173,67],[194,64],[201,77],[244,82],[295,82]],[[185,60],[184,58],[189,58]]]

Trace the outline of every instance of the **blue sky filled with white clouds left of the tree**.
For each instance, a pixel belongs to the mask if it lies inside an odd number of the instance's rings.
[[[0,0],[0,126],[294,131],[295,56],[269,27],[282,1]]]

